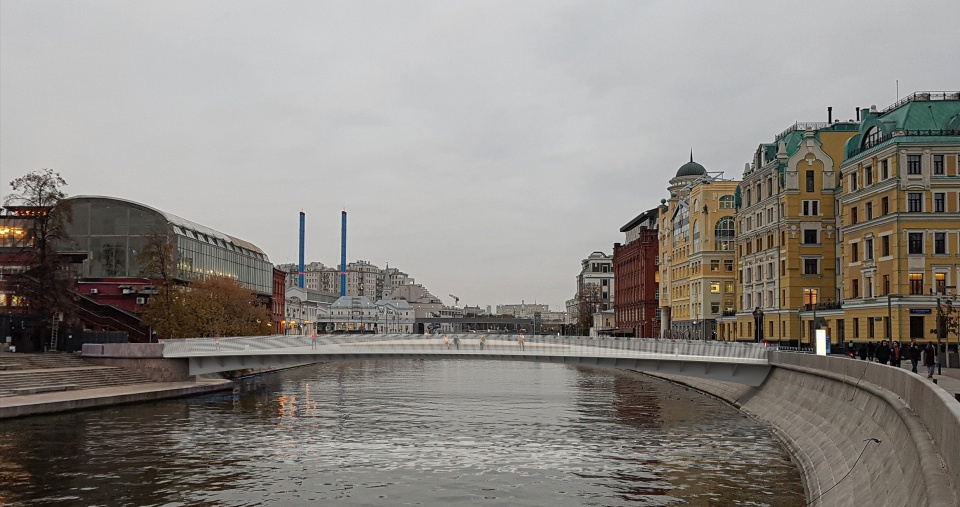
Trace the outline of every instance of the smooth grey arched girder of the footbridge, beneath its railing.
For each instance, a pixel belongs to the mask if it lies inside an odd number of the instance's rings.
[[[734,382],[752,387],[760,386],[770,372],[769,364],[758,363],[730,363],[714,361],[679,360],[677,358],[614,358],[614,357],[580,357],[556,356],[537,354],[478,354],[471,352],[457,354],[444,352],[430,353],[364,353],[364,354],[264,354],[264,355],[217,355],[208,357],[191,357],[190,375],[219,373],[223,371],[242,370],[249,368],[276,368],[296,366],[310,363],[325,363],[332,361],[367,361],[375,359],[483,359],[495,361],[527,361],[538,363],[561,363],[582,366],[597,366],[616,368],[620,370],[636,370],[654,373],[669,373],[684,375],[708,380]]]

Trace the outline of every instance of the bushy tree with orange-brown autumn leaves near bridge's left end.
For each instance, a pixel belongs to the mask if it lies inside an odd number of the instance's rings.
[[[160,291],[142,321],[161,338],[259,336],[269,331],[270,314],[233,278],[209,277]]]

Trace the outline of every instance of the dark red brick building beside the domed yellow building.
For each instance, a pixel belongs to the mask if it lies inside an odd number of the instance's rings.
[[[645,211],[621,227],[626,242],[613,245],[614,334],[659,335],[658,213],[658,208]]]

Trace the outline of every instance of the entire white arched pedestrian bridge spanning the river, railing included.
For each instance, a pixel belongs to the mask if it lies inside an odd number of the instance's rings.
[[[161,340],[190,375],[366,359],[536,361],[670,373],[759,386],[770,372],[761,344],[648,338],[404,334],[252,336]],[[447,344],[449,342],[449,344]]]

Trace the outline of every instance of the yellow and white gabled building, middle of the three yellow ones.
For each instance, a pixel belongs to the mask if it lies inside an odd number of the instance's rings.
[[[722,319],[721,339],[807,343],[814,312],[819,327],[842,319],[835,192],[857,126],[794,124],[746,165],[737,192],[737,312]]]

